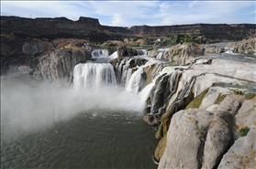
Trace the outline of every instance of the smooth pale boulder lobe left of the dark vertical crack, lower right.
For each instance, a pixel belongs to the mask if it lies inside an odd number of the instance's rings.
[[[198,109],[178,111],[167,132],[167,143],[161,157],[161,168],[199,168],[205,132],[213,113]]]

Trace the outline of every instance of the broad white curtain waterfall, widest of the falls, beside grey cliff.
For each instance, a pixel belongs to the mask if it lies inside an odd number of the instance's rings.
[[[117,84],[114,68],[109,63],[78,64],[73,69],[73,88],[98,90]]]

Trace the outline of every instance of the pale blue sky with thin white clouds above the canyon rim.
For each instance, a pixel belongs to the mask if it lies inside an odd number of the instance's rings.
[[[97,18],[104,26],[256,24],[250,1],[5,1],[1,16]]]

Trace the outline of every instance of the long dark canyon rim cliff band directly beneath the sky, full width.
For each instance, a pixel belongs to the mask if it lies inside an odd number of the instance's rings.
[[[22,18],[1,16],[1,34],[13,33],[17,37],[38,38],[85,38],[90,41],[105,41],[117,37],[153,36],[166,37],[177,34],[205,36],[228,40],[241,40],[255,33],[253,24],[194,24],[177,26],[101,26],[98,19],[80,17],[77,21],[65,17]]]

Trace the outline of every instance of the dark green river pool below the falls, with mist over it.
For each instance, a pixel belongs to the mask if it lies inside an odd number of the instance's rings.
[[[28,77],[1,80],[1,168],[157,167],[155,130],[140,111],[57,90]]]

